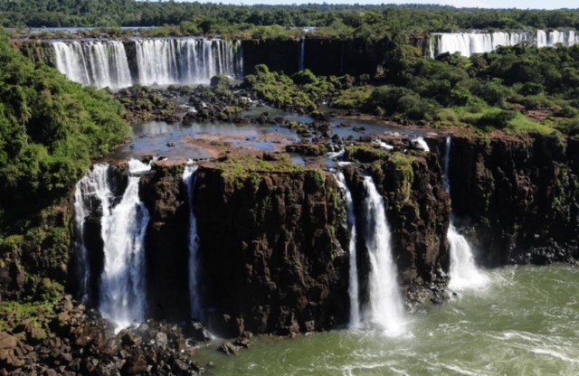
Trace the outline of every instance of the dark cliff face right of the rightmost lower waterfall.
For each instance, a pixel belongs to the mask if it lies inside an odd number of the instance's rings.
[[[451,201],[486,266],[577,255],[579,142],[555,136],[452,138]]]

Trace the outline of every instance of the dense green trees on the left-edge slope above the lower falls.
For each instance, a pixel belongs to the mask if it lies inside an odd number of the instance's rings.
[[[109,93],[34,65],[1,35],[0,61],[0,206],[20,216],[67,193],[128,127]]]

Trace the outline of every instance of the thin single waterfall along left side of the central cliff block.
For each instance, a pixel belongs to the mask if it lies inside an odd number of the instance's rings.
[[[194,208],[194,186],[195,171],[197,165],[185,165],[183,172],[183,182],[187,187],[187,197],[189,202],[189,296],[191,299],[191,317],[201,318],[201,304],[199,302],[199,292],[197,289],[197,250],[199,249],[199,236],[197,235],[197,219]]]

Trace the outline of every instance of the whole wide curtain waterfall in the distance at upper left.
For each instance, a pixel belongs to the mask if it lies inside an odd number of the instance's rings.
[[[217,74],[234,78],[243,75],[242,43],[239,41],[154,38],[127,42],[85,40],[50,43],[56,69],[70,80],[97,88],[119,89],[135,83],[209,83]]]

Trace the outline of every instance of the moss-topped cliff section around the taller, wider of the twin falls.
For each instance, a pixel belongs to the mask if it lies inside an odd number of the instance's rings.
[[[444,192],[439,160],[436,155],[387,155],[365,168],[348,166],[356,202],[356,223],[365,228],[365,190],[363,174],[371,174],[376,189],[384,197],[386,218],[392,231],[392,249],[401,284],[409,301],[422,300],[434,283],[444,280],[449,269],[449,246],[446,231],[450,221],[450,201]],[[363,249],[363,251],[360,251]],[[369,268],[365,236],[358,236],[358,268],[362,296],[367,296]],[[436,298],[432,296],[433,298]]]

